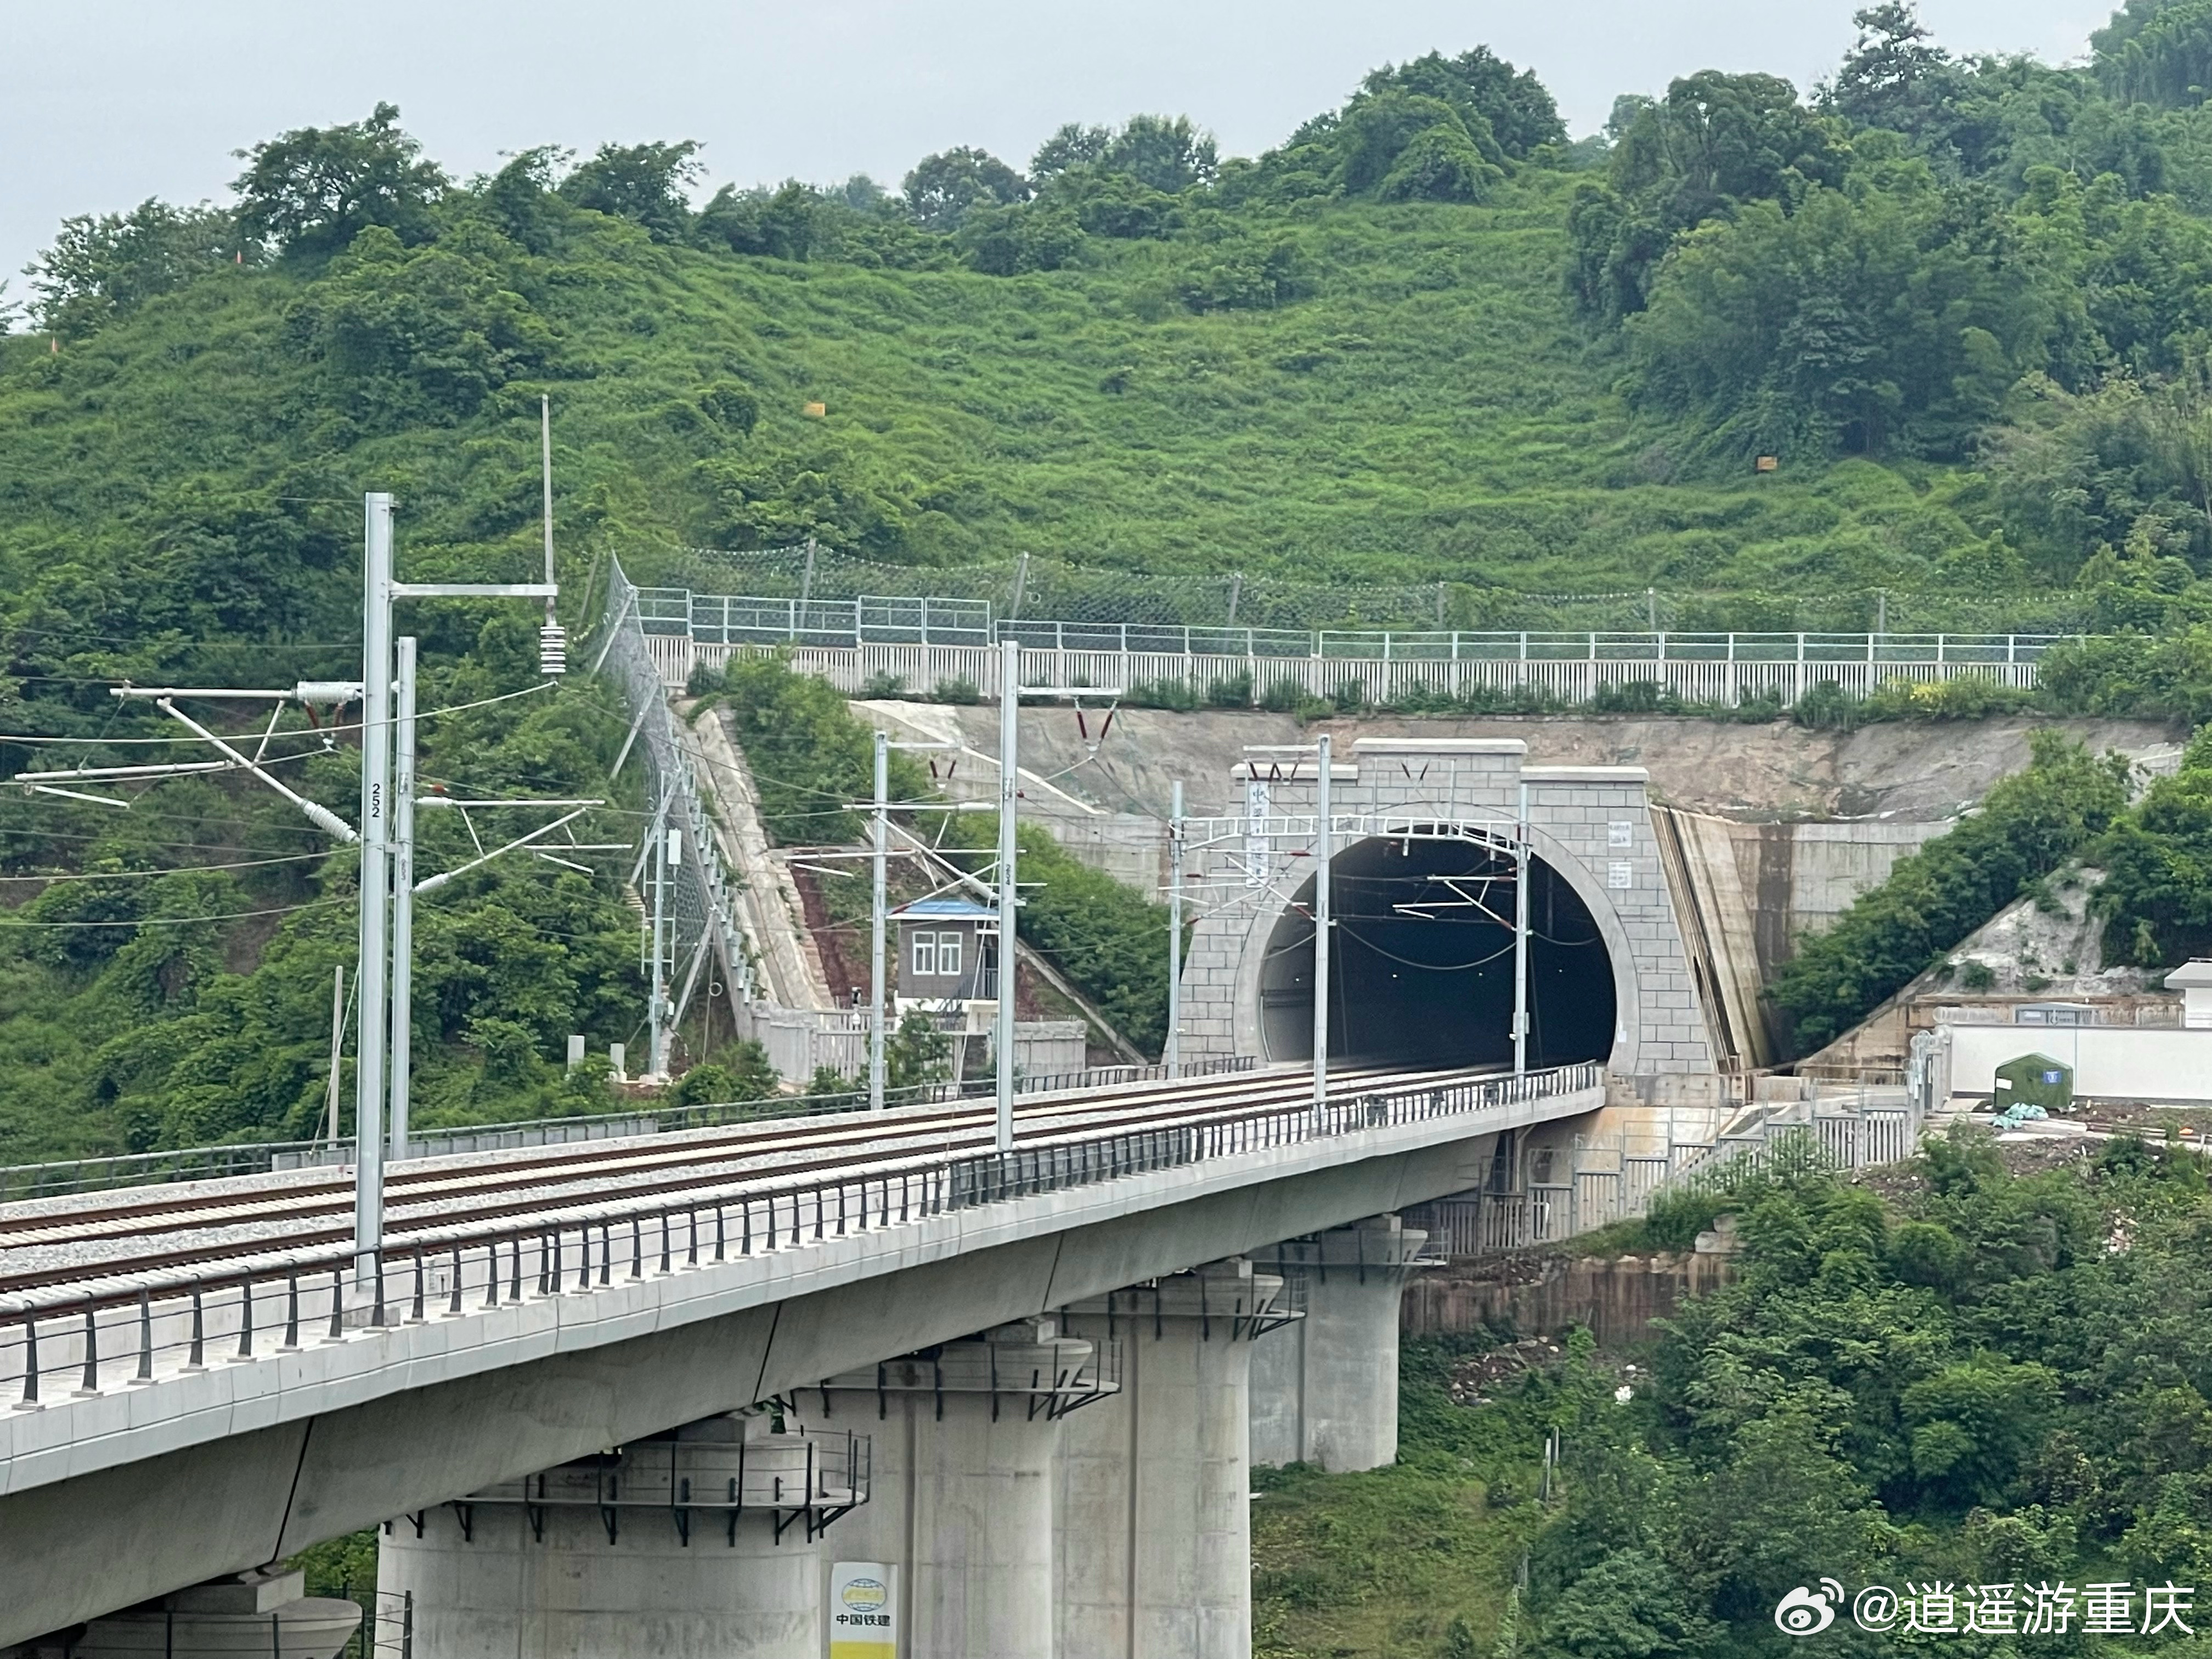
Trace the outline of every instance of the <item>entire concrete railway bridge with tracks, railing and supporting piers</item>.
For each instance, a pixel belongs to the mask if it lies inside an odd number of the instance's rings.
[[[1029,1095],[1009,1152],[953,1102],[416,1159],[372,1279],[343,1168],[7,1206],[0,1650],[327,1655],[257,1568],[389,1522],[411,1655],[1241,1657],[1250,1460],[1396,1453],[1396,1212],[1601,1099],[1261,1068]]]

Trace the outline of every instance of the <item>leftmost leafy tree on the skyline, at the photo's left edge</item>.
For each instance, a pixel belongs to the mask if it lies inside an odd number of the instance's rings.
[[[241,250],[237,217],[206,204],[148,197],[131,212],[77,215],[29,268],[33,316],[49,334],[82,338]]]

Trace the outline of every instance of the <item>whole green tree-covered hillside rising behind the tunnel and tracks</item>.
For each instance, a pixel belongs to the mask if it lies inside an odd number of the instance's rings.
[[[949,150],[896,192],[701,204],[686,142],[462,181],[378,106],[254,146],[228,204],[71,219],[0,338],[0,776],[161,754],[119,679],[345,672],[365,489],[405,573],[531,573],[540,394],[571,624],[611,555],[675,580],[812,540],[1327,584],[1298,626],[1644,588],[1672,628],[2088,622],[2057,703],[2201,717],[2212,24],[2132,0],[2086,69],[1860,24],[1812,100],[1703,73],[1579,144],[1473,49],[1254,159],[1133,117],[1026,173]],[[518,613],[409,626],[427,703],[533,684]],[[425,770],[593,792],[622,730],[571,684],[445,717]],[[354,792],[347,741],[276,752]],[[119,794],[0,796],[0,1159],[303,1133],[349,860],[272,794]],[[2177,812],[2115,911],[2139,960],[2212,916]],[[442,900],[427,1121],[604,1097],[549,1055],[637,1031],[617,865]]]

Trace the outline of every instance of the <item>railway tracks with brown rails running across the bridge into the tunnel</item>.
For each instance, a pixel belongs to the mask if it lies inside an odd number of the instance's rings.
[[[1332,1093],[1354,1097],[1493,1075],[1495,1068],[1343,1071],[1332,1075]],[[1203,1124],[1296,1104],[1310,1088],[1312,1077],[1298,1071],[1026,1097],[1015,1102],[1015,1146]],[[909,1106],[880,1117],[768,1119],[396,1164],[385,1172],[385,1241],[416,1250],[518,1217],[668,1201],[688,1190],[772,1192],[825,1175],[975,1155],[991,1148],[993,1121],[991,1102]],[[354,1186],[345,1168],[33,1199],[0,1206],[0,1296],[208,1267],[268,1250],[314,1250],[352,1237]]]

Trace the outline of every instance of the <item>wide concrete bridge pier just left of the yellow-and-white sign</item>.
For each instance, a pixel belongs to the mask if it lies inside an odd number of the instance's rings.
[[[411,1659],[818,1659],[823,1526],[865,1500],[865,1436],[708,1418],[400,1515],[376,1579]]]

